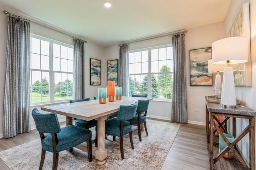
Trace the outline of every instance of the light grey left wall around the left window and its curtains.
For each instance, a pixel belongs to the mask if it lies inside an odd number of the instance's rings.
[[[0,6],[0,11],[6,10],[6,8],[3,8]],[[8,11],[17,14],[17,12],[7,9]],[[18,15],[18,14],[17,14]],[[36,23],[32,23],[30,25],[30,31],[31,33],[41,35],[43,37],[47,37],[50,39],[54,39],[66,44],[74,45],[73,44],[73,38],[69,37],[67,35],[64,35],[62,33],[59,33],[57,31],[54,31],[52,29],[43,27],[41,25],[38,25]],[[4,79],[5,79],[5,61],[6,61],[6,41],[7,41],[7,15],[3,12],[0,12],[0,138],[2,137],[2,127],[3,127],[3,104],[4,104]],[[88,43],[85,43],[85,83],[84,86],[86,88],[86,97],[90,97],[93,99],[94,96],[97,96],[98,94],[98,87],[99,86],[90,86],[90,75],[88,74],[90,72],[90,58],[95,59],[101,59],[102,60],[102,70],[106,70],[106,60],[103,56],[103,47],[97,44],[92,43],[91,41],[88,41]],[[106,75],[102,74],[102,85],[106,86]],[[48,104],[46,106],[49,106],[52,104]],[[40,110],[41,106],[31,107],[38,108]],[[44,112],[44,111],[42,111]],[[58,115],[59,121],[64,121],[65,117],[62,115]],[[35,128],[34,120],[31,116],[31,128]]]

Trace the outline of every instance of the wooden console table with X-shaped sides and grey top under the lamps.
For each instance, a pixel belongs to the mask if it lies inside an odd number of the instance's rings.
[[[236,108],[226,108],[226,107],[220,107],[220,104],[217,103],[209,103],[207,98],[206,100],[206,134],[207,134],[207,141],[210,143],[209,147],[209,159],[210,159],[210,170],[217,169],[216,168],[216,162],[224,156],[228,150],[232,149],[235,155],[235,158],[237,161],[233,161],[233,164],[236,164],[240,162],[240,167],[244,168],[246,170],[254,170],[255,169],[255,131],[254,131],[254,117],[256,115],[256,111],[253,111],[252,109],[245,107],[245,106],[237,106]],[[225,119],[220,122],[216,116],[224,116]],[[233,136],[234,140],[230,143],[228,139],[223,135],[223,132],[220,130],[222,128],[224,130],[224,133],[227,133],[227,129],[225,128],[224,124],[227,122],[227,120],[232,117],[233,119]],[[241,131],[239,135],[236,135],[236,117],[237,118],[243,118],[243,119],[249,119],[249,125]],[[214,120],[218,123],[214,123]],[[215,129],[214,129],[215,127]],[[222,136],[224,141],[227,143],[227,147],[222,150],[218,155],[214,158],[214,152],[218,150],[214,146],[214,133],[218,131],[219,134]],[[240,141],[247,133],[249,133],[249,150],[250,150],[250,165],[246,163],[246,161],[242,158],[240,155],[240,152],[238,152],[238,149],[236,148],[236,144],[238,141]],[[214,151],[215,150],[215,151]],[[226,160],[228,162],[228,160]],[[238,165],[234,165],[238,166]],[[233,167],[234,167],[233,166]],[[232,166],[229,164],[229,167],[232,168]],[[238,168],[238,167],[236,167]]]

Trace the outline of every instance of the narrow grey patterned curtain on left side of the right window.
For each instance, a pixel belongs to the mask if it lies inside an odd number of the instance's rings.
[[[122,87],[123,96],[128,96],[128,45],[119,47],[118,86]]]

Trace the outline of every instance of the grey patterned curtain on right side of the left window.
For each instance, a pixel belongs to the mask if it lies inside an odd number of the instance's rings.
[[[84,98],[84,41],[74,39],[74,99]]]

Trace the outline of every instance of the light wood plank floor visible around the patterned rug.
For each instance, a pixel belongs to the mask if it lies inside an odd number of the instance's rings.
[[[60,123],[64,126],[65,123]],[[0,151],[38,139],[38,131],[23,133],[10,139],[0,139]],[[182,124],[166,156],[161,170],[204,170],[209,169],[205,127]],[[0,159],[0,170],[9,168]]]

